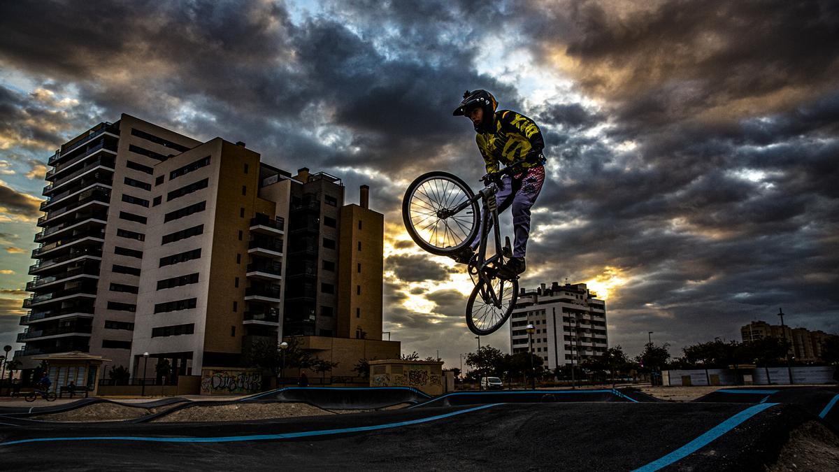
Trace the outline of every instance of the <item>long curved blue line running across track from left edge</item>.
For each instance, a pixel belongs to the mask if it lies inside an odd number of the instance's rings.
[[[462,415],[464,413],[470,412],[477,412],[478,410],[484,410],[487,408],[491,408],[492,406],[498,406],[501,403],[492,403],[490,405],[482,405],[482,406],[475,406],[473,408],[466,408],[466,410],[458,410],[456,412],[446,413],[443,415],[436,415],[434,417],[425,417],[419,418],[415,420],[408,420],[404,422],[390,422],[385,424],[376,424],[373,426],[360,426],[360,427],[342,427],[339,429],[321,429],[319,431],[302,431],[300,433],[278,433],[278,434],[253,434],[249,436],[221,436],[216,438],[154,438],[154,437],[143,437],[143,436],[89,436],[89,437],[81,437],[81,438],[31,438],[31,439],[19,439],[17,441],[8,441],[6,443],[0,443],[0,447],[2,446],[11,446],[13,444],[23,444],[23,443],[45,443],[45,442],[53,442],[53,441],[148,441],[153,443],[233,443],[233,442],[241,442],[241,441],[262,441],[266,439],[290,439],[290,438],[308,438],[311,436],[326,436],[329,434],[342,434],[342,433],[361,433],[365,431],[377,431],[379,429],[389,429],[392,427],[402,427],[402,426],[410,426],[414,424],[420,424],[424,422],[433,422],[436,420],[441,420],[448,417],[456,417],[457,415]]]

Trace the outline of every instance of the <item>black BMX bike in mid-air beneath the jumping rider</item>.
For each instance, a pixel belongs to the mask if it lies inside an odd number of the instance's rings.
[[[460,254],[469,248],[480,230],[477,254],[472,255],[466,270],[475,288],[466,302],[466,326],[472,333],[485,336],[507,322],[519,297],[519,277],[498,276],[505,260],[513,256],[510,239],[501,244],[498,228],[496,193],[503,185],[501,177],[520,172],[521,161],[484,176],[487,184],[477,194],[461,178],[443,171],[417,177],[408,186],[402,200],[402,219],[411,239],[431,254]],[[483,211],[479,211],[480,208]],[[487,256],[487,238],[492,227],[494,254]]]

